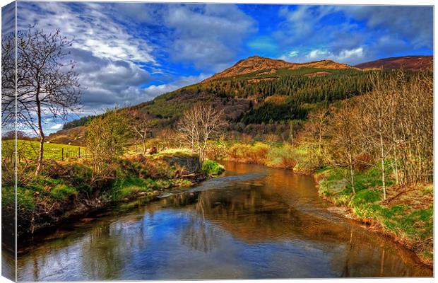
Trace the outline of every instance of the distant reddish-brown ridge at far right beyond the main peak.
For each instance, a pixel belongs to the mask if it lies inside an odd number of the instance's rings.
[[[360,69],[406,69],[418,71],[433,66],[433,56],[404,56],[379,59],[355,65]]]

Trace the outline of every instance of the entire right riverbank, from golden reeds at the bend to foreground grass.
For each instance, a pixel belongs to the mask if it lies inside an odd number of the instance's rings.
[[[235,143],[224,158],[240,163],[255,163],[291,169],[300,175],[313,175],[320,197],[331,202],[332,212],[367,225],[367,229],[392,238],[413,250],[425,265],[433,265],[433,184],[397,185],[386,166],[387,199],[382,200],[381,173],[370,167],[355,175],[356,195],[343,168],[324,166],[305,146],[268,146],[261,142]]]

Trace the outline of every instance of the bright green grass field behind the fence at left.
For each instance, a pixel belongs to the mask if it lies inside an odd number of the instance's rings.
[[[10,158],[13,156],[13,146],[12,140],[1,141],[1,154],[4,158]],[[28,160],[36,160],[38,149],[40,148],[40,143],[38,141],[23,141],[18,140],[17,144],[17,155],[20,161],[24,158]],[[85,147],[83,146],[70,146],[68,144],[44,144],[44,158],[53,159],[61,161],[63,159],[63,149],[64,149],[64,160],[66,158],[77,157],[79,154],[81,156],[86,154]]]

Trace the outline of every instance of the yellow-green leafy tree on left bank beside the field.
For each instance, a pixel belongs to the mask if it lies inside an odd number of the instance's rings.
[[[123,154],[128,137],[127,127],[125,113],[117,108],[108,109],[88,124],[85,142],[93,163],[91,180],[105,174],[114,158]]]

